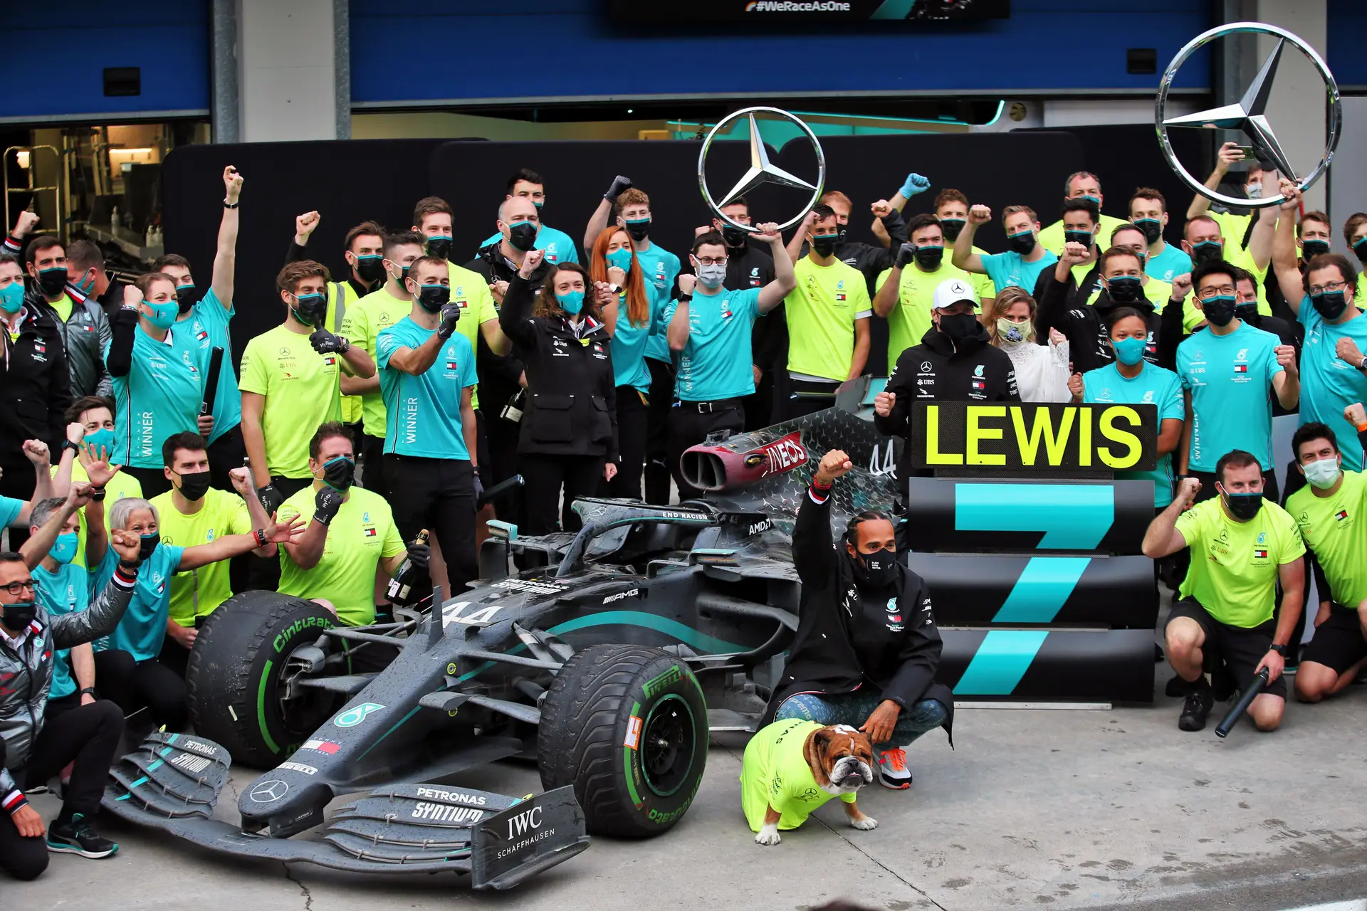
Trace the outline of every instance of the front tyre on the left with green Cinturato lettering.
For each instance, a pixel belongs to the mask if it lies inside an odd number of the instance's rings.
[[[276,591],[243,591],[224,601],[200,627],[186,669],[195,733],[258,769],[288,758],[327,721],[336,697],[309,690],[284,703],[286,660],[335,624],[313,601]]]

